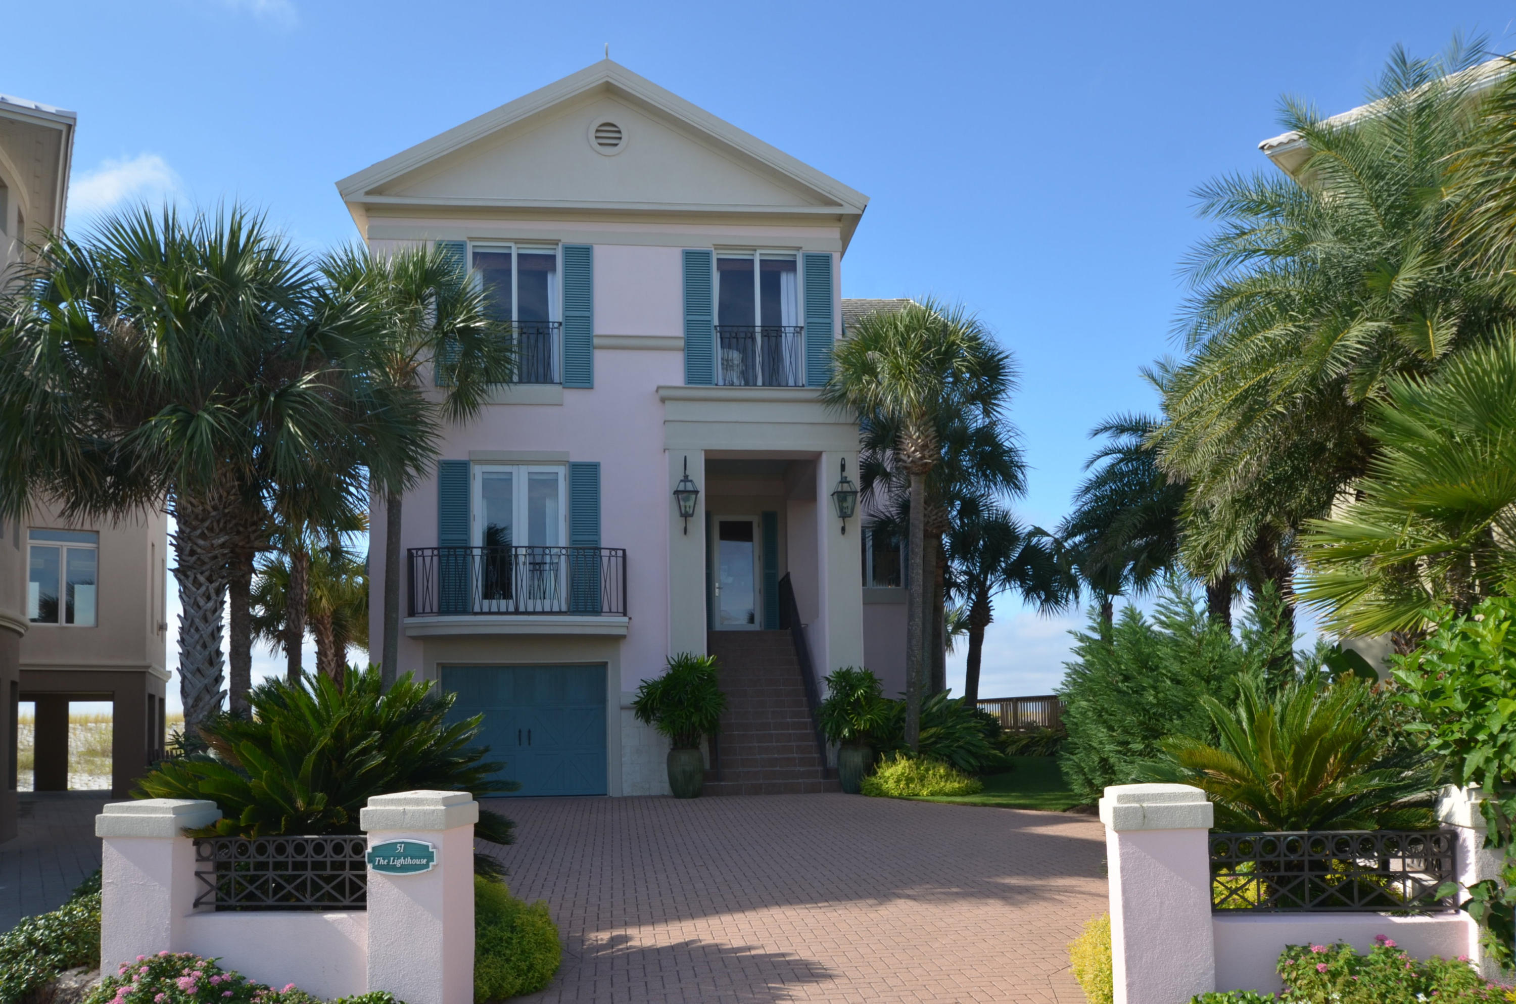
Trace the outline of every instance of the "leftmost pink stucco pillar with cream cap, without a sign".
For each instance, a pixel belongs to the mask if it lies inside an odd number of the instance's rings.
[[[111,802],[96,816],[102,974],[182,946],[196,896],[194,840],[183,831],[220,817],[215,802],[186,798]]]

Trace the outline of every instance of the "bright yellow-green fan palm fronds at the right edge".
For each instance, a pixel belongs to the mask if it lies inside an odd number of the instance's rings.
[[[1393,632],[1408,651],[1430,610],[1466,614],[1516,576],[1516,335],[1387,396],[1369,473],[1307,528],[1301,595],[1328,629]]]

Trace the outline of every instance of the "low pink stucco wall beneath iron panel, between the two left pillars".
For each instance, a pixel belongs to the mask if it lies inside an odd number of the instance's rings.
[[[318,998],[368,989],[368,913],[203,911],[185,918],[183,948],[218,957],[226,969],[282,987],[294,983]],[[291,951],[299,945],[300,951]]]

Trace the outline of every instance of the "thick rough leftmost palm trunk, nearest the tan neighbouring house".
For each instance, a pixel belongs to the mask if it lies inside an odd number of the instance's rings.
[[[230,534],[214,504],[174,500],[174,581],[179,584],[179,698],[185,729],[221,710],[226,681],[221,660],[221,613]]]

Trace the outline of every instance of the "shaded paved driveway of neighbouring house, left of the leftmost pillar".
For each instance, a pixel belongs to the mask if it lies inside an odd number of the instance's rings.
[[[62,905],[100,868],[94,817],[109,792],[21,792],[17,837],[0,843],[0,931]]]

